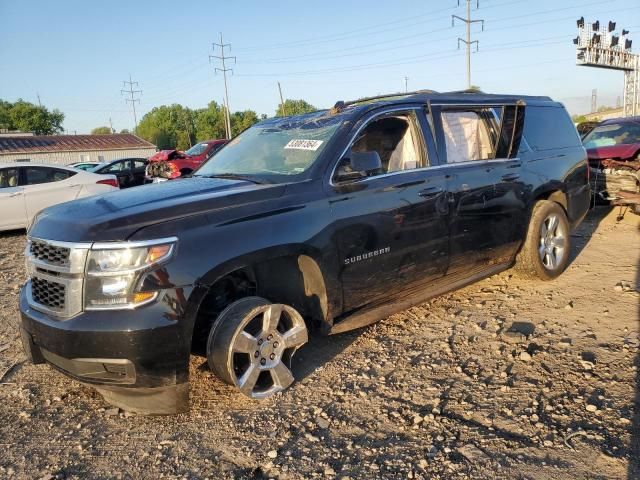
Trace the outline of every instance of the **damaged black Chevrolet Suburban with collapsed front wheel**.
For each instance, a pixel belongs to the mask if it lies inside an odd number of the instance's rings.
[[[42,211],[25,350],[138,412],[188,408],[192,353],[268,397],[293,383],[310,329],[362,327],[514,265],[558,276],[589,205],[586,159],[547,97],[421,91],[265,120],[192,178]]]

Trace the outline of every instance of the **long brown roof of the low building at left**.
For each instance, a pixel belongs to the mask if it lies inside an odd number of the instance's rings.
[[[156,146],[130,133],[0,137],[0,155],[6,153],[53,153],[136,148],[153,148],[155,150]]]

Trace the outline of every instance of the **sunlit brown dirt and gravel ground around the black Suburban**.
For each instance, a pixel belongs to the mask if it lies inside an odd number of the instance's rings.
[[[194,357],[191,412],[169,417],[25,362],[25,236],[0,235],[0,477],[640,478],[640,217],[605,213],[556,281],[505,272],[314,338],[273,399]]]

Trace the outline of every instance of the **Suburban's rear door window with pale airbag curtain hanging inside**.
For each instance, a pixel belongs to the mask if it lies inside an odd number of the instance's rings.
[[[442,129],[447,163],[495,158],[497,132],[491,109],[443,110]]]

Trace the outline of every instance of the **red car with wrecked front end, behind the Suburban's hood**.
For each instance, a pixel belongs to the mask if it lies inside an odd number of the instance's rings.
[[[227,142],[228,140],[207,140],[197,143],[186,152],[160,150],[149,157],[146,182],[162,182],[189,175]]]

